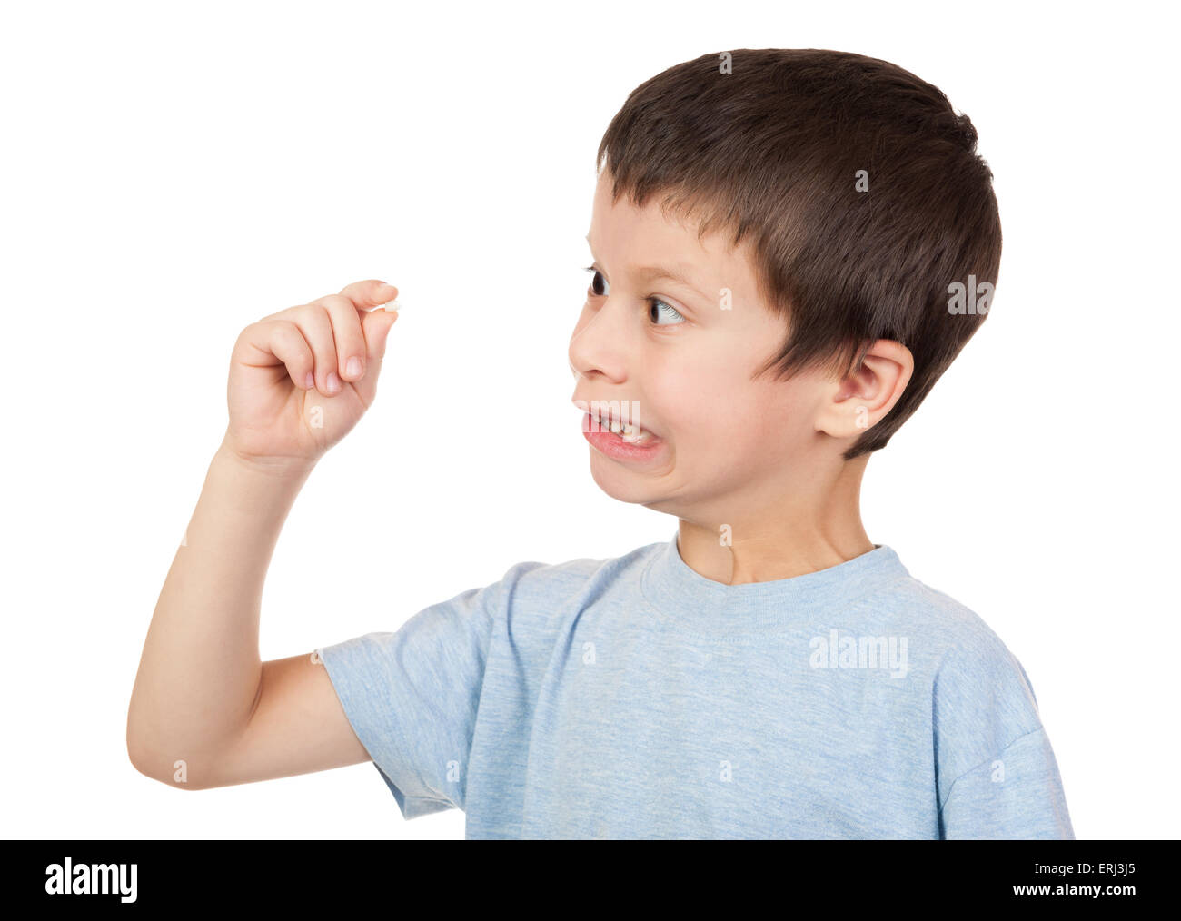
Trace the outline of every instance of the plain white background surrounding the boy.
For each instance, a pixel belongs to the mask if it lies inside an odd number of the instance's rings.
[[[458,810],[405,822],[368,763],[182,792],[128,760],[230,347],[358,279],[406,305],[376,406],[280,538],[263,659],[396,629],[522,560],[671,538],[590,479],[569,401],[594,154],[665,67],[828,47],[967,112],[1004,227],[988,321],[869,464],[869,536],[1022,661],[1079,838],[1176,837],[1166,8],[6,5],[2,834],[462,837]]]

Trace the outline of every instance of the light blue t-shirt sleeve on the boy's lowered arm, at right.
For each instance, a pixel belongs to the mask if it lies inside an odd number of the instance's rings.
[[[999,639],[944,660],[934,730],[940,837],[1074,840],[1033,687]]]

